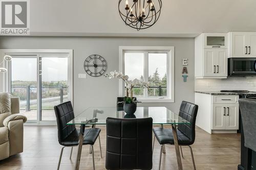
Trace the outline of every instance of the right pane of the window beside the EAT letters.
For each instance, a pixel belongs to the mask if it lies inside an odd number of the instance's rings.
[[[148,53],[148,96],[167,95],[167,54]]]

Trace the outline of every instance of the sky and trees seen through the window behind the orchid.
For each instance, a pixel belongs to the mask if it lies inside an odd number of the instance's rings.
[[[147,58],[148,65],[144,65],[144,57]],[[150,90],[147,96],[167,96],[167,53],[125,53],[124,62],[124,72],[130,80],[145,81],[144,70],[148,70],[147,82],[150,85]],[[133,94],[134,96],[143,96],[143,89],[134,87]]]

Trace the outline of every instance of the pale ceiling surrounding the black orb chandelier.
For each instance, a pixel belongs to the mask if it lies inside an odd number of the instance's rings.
[[[202,32],[256,31],[255,0],[162,0],[157,23],[139,32],[118,13],[118,0],[32,0],[33,36],[194,37]]]

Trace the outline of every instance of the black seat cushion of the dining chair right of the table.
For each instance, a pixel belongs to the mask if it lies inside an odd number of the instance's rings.
[[[153,132],[160,144],[174,144],[174,136],[172,129],[154,128]],[[178,143],[180,145],[193,144],[191,140],[177,129]]]

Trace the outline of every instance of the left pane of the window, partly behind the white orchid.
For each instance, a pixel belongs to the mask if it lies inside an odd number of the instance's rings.
[[[125,53],[124,54],[124,74],[129,76],[129,80],[144,79],[144,53]],[[143,96],[143,89],[133,89],[134,96]]]

